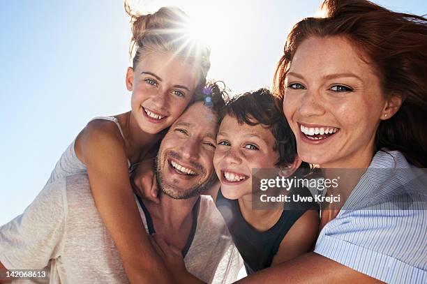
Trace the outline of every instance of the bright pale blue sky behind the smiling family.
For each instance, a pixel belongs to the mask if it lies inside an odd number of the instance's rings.
[[[423,15],[425,1],[375,1]],[[233,93],[268,87],[292,25],[320,0],[135,1],[177,6],[211,45],[208,77]],[[130,26],[120,0],[0,2],[0,225],[24,211],[92,117],[130,109]]]

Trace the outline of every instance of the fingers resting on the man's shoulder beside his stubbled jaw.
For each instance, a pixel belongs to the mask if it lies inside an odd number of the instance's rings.
[[[144,159],[137,165],[132,179],[142,198],[159,204],[158,185],[154,170],[154,158]]]

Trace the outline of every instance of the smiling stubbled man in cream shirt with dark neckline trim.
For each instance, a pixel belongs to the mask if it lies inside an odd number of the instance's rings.
[[[217,117],[203,103],[170,127],[156,158],[160,204],[142,202],[140,168],[131,175],[146,230],[179,248],[186,268],[205,282],[231,283],[241,267],[227,227],[210,197]],[[0,227],[0,267],[43,269],[51,283],[128,282],[119,253],[96,210],[85,174],[48,184],[36,200]]]

